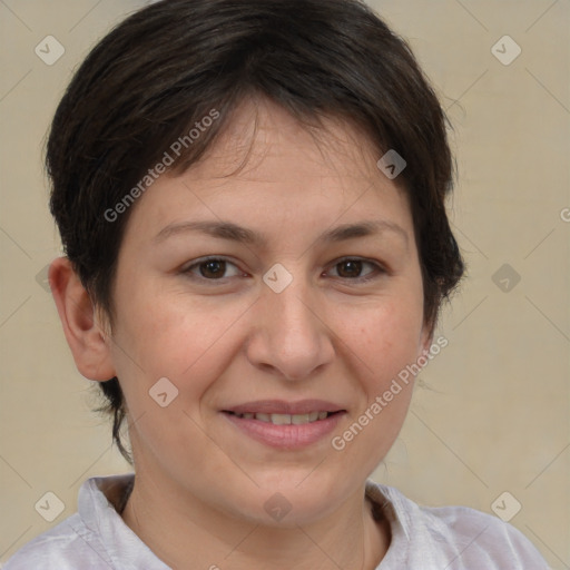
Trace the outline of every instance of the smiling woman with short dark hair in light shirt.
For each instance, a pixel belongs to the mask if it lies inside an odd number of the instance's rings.
[[[86,481],[8,570],[547,567],[367,479],[463,263],[443,111],[365,4],[145,8],[77,71],[47,164],[53,297],[135,474]]]

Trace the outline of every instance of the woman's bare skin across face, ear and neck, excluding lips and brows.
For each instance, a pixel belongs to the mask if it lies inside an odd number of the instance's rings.
[[[51,266],[79,371],[118,376],[126,396],[137,475],[124,520],[174,569],[373,569],[390,544],[364,484],[401,430],[413,383],[344,450],[331,440],[429,347],[419,256],[397,179],[351,126],[325,125],[315,138],[283,109],[250,101],[198,164],[160,177],[120,246],[112,331],[69,262]],[[190,230],[156,239],[187,220],[230,220],[266,240]],[[364,220],[400,229],[317,240]],[[209,255],[227,259],[223,279],[193,265]],[[282,293],[263,282],[276,263],[293,276]],[[164,376],[179,392],[160,407],[148,392]],[[346,413],[308,448],[273,449],[220,413],[258,399],[323,399]],[[264,509],[277,492],[292,505],[281,521]]]

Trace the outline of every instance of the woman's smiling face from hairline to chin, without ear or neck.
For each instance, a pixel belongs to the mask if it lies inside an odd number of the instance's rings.
[[[277,492],[306,523],[362,489],[412,383],[383,394],[429,336],[410,206],[377,158],[258,101],[138,199],[109,343],[137,476],[265,523]]]

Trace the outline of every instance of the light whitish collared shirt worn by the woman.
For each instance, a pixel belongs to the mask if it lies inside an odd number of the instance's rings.
[[[88,479],[78,512],[28,542],[3,570],[171,570],[119,514],[134,478]],[[391,530],[376,570],[548,570],[529,540],[495,517],[466,507],[421,507],[372,480],[366,497]]]

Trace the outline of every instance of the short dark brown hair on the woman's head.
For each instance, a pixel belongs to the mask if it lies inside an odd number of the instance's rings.
[[[463,274],[445,197],[452,189],[446,118],[407,43],[360,0],[163,0],[99,41],[73,76],[51,125],[51,213],[65,252],[112,323],[111,285],[130,209],[112,209],[213,108],[219,120],[184,147],[183,171],[215,141],[246,97],[262,96],[301,121],[337,117],[377,148],[404,157],[433,331]],[[379,176],[383,176],[379,170]],[[120,438],[118,379],[100,383]]]

